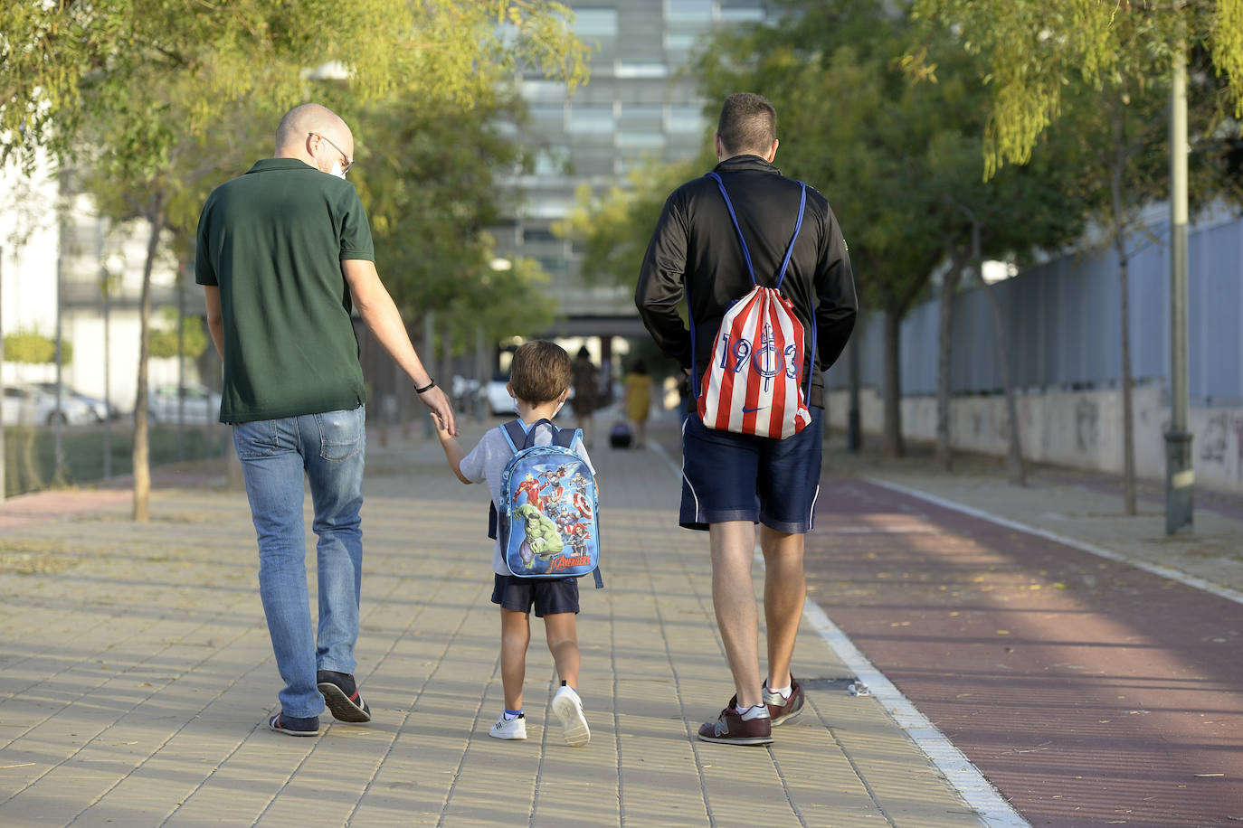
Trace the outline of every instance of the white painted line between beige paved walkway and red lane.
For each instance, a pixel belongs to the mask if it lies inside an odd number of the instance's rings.
[[[648,447],[669,464],[679,479],[681,478],[681,467],[674,463],[664,447],[655,442],[648,443]],[[756,545],[756,557],[763,566],[764,559],[758,544]],[[866,655],[859,652],[859,648],[829,619],[818,603],[808,598],[803,605],[803,617],[842,663],[868,685],[876,700],[889,711],[894,722],[906,731],[911,741],[924,751],[924,755],[953,786],[963,802],[979,816],[979,821],[986,828],[1032,828],[1032,824],[1002,798],[997,788],[971,763],[971,760],[955,747],[945,734],[929,721],[927,716],[916,710],[915,705],[868,660]]]

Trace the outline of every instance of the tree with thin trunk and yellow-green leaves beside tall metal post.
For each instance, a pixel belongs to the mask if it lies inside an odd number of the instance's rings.
[[[1106,240],[1117,256],[1121,319],[1122,490],[1124,510],[1134,515],[1135,437],[1130,360],[1127,241],[1140,209],[1165,195],[1161,146],[1165,129],[1157,113],[1172,56],[1191,43],[1211,57],[1236,118],[1243,117],[1243,0],[1221,2],[961,2],[917,0],[916,12],[951,24],[965,51],[982,57],[982,79],[992,87],[984,143],[984,175],[1004,163],[1025,164],[1037,137],[1063,110],[1075,113],[1071,129],[1084,139],[1086,186],[1098,205]],[[1181,58],[1180,58],[1181,60]],[[907,56],[915,74],[932,77],[926,51]],[[1154,65],[1157,68],[1154,68]],[[1207,73],[1206,73],[1207,77]],[[1079,81],[1069,83],[1068,78]],[[1224,115],[1227,94],[1211,89],[1203,99],[1203,135]],[[1193,189],[1201,196],[1231,190],[1213,176]]]

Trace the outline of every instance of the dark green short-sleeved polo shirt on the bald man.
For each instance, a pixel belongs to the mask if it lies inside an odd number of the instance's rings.
[[[220,287],[220,422],[367,401],[341,261],[375,261],[354,185],[270,158],[216,187],[199,216],[195,282]]]

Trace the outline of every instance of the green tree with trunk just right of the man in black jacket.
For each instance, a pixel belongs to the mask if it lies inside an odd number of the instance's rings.
[[[820,187],[842,221],[864,304],[884,312],[884,444],[904,453],[901,323],[963,235],[946,197],[965,130],[961,84],[912,86],[896,57],[912,27],[884,2],[791,4],[776,26],[718,36],[701,61],[711,99],[762,89],[778,165]],[[951,165],[952,166],[952,165]]]

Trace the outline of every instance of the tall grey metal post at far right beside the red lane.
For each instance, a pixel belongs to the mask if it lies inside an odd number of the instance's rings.
[[[1187,430],[1187,56],[1178,43],[1170,93],[1170,431],[1166,534],[1191,529],[1196,474]]]

